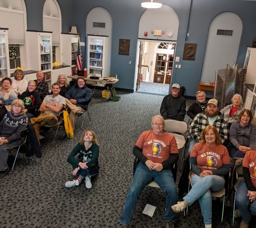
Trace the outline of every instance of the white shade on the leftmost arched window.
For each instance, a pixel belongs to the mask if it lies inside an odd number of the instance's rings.
[[[0,9],[0,27],[9,28],[9,44],[25,44],[23,12],[9,12]]]

